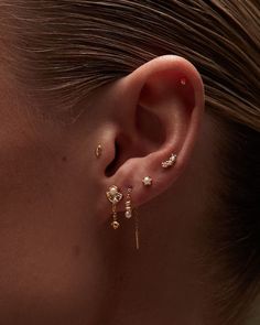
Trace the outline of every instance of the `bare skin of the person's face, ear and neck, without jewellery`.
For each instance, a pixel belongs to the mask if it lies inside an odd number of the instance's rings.
[[[173,55],[145,63],[82,102],[71,124],[41,118],[8,74],[0,89],[4,324],[215,324],[199,258],[218,140],[195,67]],[[177,162],[163,170],[171,153]],[[113,184],[124,197],[133,186],[138,251],[124,199],[111,229]]]

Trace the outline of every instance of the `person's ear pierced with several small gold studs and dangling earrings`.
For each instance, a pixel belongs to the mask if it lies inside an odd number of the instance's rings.
[[[197,139],[204,111],[199,73],[186,59],[156,57],[115,84],[116,104],[107,123],[104,167],[104,209],[110,206],[106,191],[116,185],[124,194],[132,186],[132,203],[140,206],[166,191],[185,171]],[[109,131],[110,128],[110,131]],[[176,154],[174,165],[162,162]],[[152,178],[151,186],[142,180]],[[118,210],[123,210],[123,201]]]

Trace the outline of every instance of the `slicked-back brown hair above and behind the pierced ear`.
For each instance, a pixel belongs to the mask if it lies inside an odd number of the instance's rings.
[[[79,113],[83,98],[159,55],[183,56],[198,69],[223,140],[210,232],[225,269],[216,304],[225,324],[238,324],[260,280],[260,2],[2,0],[0,12],[7,66],[56,111]]]

